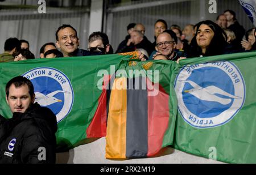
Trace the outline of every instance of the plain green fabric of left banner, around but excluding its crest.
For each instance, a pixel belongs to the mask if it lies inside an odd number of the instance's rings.
[[[118,69],[119,64],[127,63],[129,58],[131,56],[113,54],[112,56],[30,59],[0,63],[0,114],[6,118],[12,117],[5,100],[5,86],[11,78],[36,67],[52,67],[63,72],[71,81],[74,92],[72,110],[58,123],[56,133],[57,150],[66,151],[68,148],[81,144],[82,140],[86,138],[86,128],[92,121],[98,106],[98,98],[102,92],[97,87],[98,80],[102,78],[97,75],[97,72],[99,70],[110,72],[110,65]]]

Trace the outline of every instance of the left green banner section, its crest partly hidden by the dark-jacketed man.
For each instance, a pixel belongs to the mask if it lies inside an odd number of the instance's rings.
[[[103,78],[98,72],[114,74],[119,65],[128,65],[132,57],[113,54],[0,63],[0,114],[12,117],[5,101],[6,83],[15,76],[26,76],[34,84],[35,101],[56,114],[57,150],[66,151],[88,138],[86,129],[102,93],[99,85]]]

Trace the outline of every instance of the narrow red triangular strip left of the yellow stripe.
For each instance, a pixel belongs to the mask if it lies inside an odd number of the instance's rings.
[[[102,93],[98,99],[98,106],[93,116],[92,122],[86,129],[87,138],[99,138],[106,136],[106,119],[107,119],[107,87],[109,85],[110,75],[104,76]]]

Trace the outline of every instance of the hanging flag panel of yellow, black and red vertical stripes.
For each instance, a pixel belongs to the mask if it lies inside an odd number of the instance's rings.
[[[139,89],[134,82],[141,82]],[[168,128],[169,95],[159,84],[153,85],[144,77],[116,78],[113,87],[109,100],[106,158],[154,156],[161,150]],[[151,96],[153,91],[157,95]]]

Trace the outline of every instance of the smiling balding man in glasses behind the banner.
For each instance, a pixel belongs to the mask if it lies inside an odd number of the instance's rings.
[[[177,36],[171,30],[165,30],[163,33],[160,33],[156,38],[156,53],[153,56],[153,59],[156,55],[162,54],[167,56],[171,61],[177,61],[180,57],[184,57],[183,50],[176,49]]]

